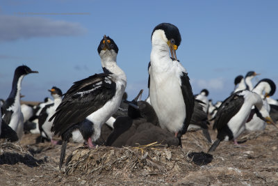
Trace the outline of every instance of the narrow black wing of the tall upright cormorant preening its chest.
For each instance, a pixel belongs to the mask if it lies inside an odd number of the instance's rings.
[[[189,82],[189,77],[187,73],[183,72],[183,75],[181,76],[181,92],[183,94],[183,100],[186,104],[186,119],[183,122],[183,128],[181,131],[181,134],[185,134],[188,128],[188,125],[190,123],[191,116],[193,114],[194,110],[194,95],[192,92],[192,88]]]

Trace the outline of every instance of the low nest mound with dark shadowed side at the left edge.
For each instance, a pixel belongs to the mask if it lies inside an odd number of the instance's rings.
[[[0,164],[17,164],[21,162],[33,167],[44,162],[44,160],[36,160],[28,150],[19,144],[4,141],[0,143],[0,149]]]

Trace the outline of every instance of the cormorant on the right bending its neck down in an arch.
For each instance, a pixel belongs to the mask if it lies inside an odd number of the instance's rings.
[[[252,107],[254,106],[254,109]],[[263,107],[261,96],[252,91],[238,91],[222,102],[217,114],[213,129],[218,130],[217,139],[209,148],[208,153],[215,150],[220,141],[234,140],[245,130],[245,123],[252,120],[254,114],[263,121],[272,123],[268,111]],[[275,125],[276,126],[276,125]]]

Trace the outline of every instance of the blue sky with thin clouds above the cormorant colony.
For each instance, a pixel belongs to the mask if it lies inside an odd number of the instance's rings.
[[[234,89],[234,78],[250,70],[253,82],[278,82],[278,1],[74,1],[0,2],[0,98],[10,93],[13,72],[28,65],[23,100],[42,101],[52,86],[101,72],[97,46],[104,34],[119,47],[117,64],[126,72],[129,99],[144,89],[151,33],[161,22],[175,24],[182,42],[177,58],[193,92],[207,88],[214,102]],[[277,99],[278,93],[272,98]]]

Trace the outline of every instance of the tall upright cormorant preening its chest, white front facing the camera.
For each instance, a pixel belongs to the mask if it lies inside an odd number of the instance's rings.
[[[161,127],[173,132],[181,145],[193,114],[194,95],[186,69],[177,60],[180,43],[181,34],[173,24],[161,23],[152,31],[149,98]]]

